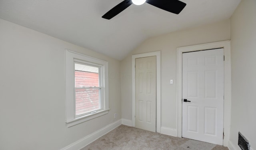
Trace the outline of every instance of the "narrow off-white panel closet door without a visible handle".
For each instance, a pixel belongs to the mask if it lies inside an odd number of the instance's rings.
[[[135,127],[156,132],[156,56],[135,60]]]

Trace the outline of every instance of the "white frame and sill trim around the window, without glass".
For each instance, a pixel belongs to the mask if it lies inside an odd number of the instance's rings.
[[[103,102],[102,109],[94,111],[91,114],[86,114],[84,116],[75,115],[75,79],[74,79],[74,61],[82,60],[88,62],[88,64],[99,64],[102,66],[102,94],[101,100]],[[66,73],[66,124],[68,127],[80,124],[82,122],[91,120],[93,118],[108,114],[109,110],[109,100],[108,100],[108,62],[86,56],[71,50],[66,50],[65,52],[65,73]]]

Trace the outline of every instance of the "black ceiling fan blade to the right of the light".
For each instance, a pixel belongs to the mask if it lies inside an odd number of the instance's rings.
[[[186,6],[186,3],[179,0],[147,0],[146,2],[174,14],[179,14]]]

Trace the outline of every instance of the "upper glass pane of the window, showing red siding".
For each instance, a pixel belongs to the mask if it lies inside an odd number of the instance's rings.
[[[99,68],[84,64],[75,64],[75,87],[94,86],[99,86]]]

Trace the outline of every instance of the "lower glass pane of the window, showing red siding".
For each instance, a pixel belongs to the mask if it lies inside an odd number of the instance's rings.
[[[100,89],[76,89],[76,116],[100,109]]]

